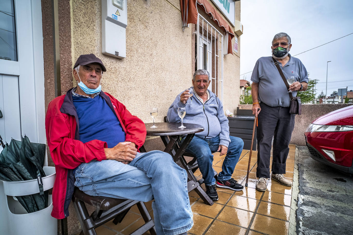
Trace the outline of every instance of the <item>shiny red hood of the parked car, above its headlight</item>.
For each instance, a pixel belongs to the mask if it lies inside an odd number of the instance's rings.
[[[312,123],[317,125],[353,125],[353,105],[329,112],[315,119]]]

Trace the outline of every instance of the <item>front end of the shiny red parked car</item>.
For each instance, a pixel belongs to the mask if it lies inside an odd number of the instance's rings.
[[[314,120],[305,130],[305,141],[312,159],[353,173],[353,105]]]

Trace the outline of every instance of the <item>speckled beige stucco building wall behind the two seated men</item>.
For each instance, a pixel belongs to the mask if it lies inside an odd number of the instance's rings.
[[[107,67],[102,89],[144,122],[152,121],[149,107],[158,107],[156,121],[162,122],[175,97],[191,86],[192,33],[191,27],[182,30],[180,2],[127,1],[123,60],[101,54],[100,3],[73,0],[72,63],[80,54],[96,54]],[[225,109],[234,110],[239,103],[239,66],[238,56],[224,57]]]

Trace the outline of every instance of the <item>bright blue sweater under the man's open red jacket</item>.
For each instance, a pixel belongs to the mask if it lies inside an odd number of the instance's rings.
[[[108,148],[125,141],[125,132],[118,117],[100,95],[93,99],[72,98],[79,120],[80,141],[101,140],[107,142]]]

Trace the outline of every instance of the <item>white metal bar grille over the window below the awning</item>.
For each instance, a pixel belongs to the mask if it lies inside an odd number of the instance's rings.
[[[223,102],[223,41],[225,37],[200,14],[196,25],[197,69],[211,76],[209,89]],[[228,41],[227,41],[228,42]]]

